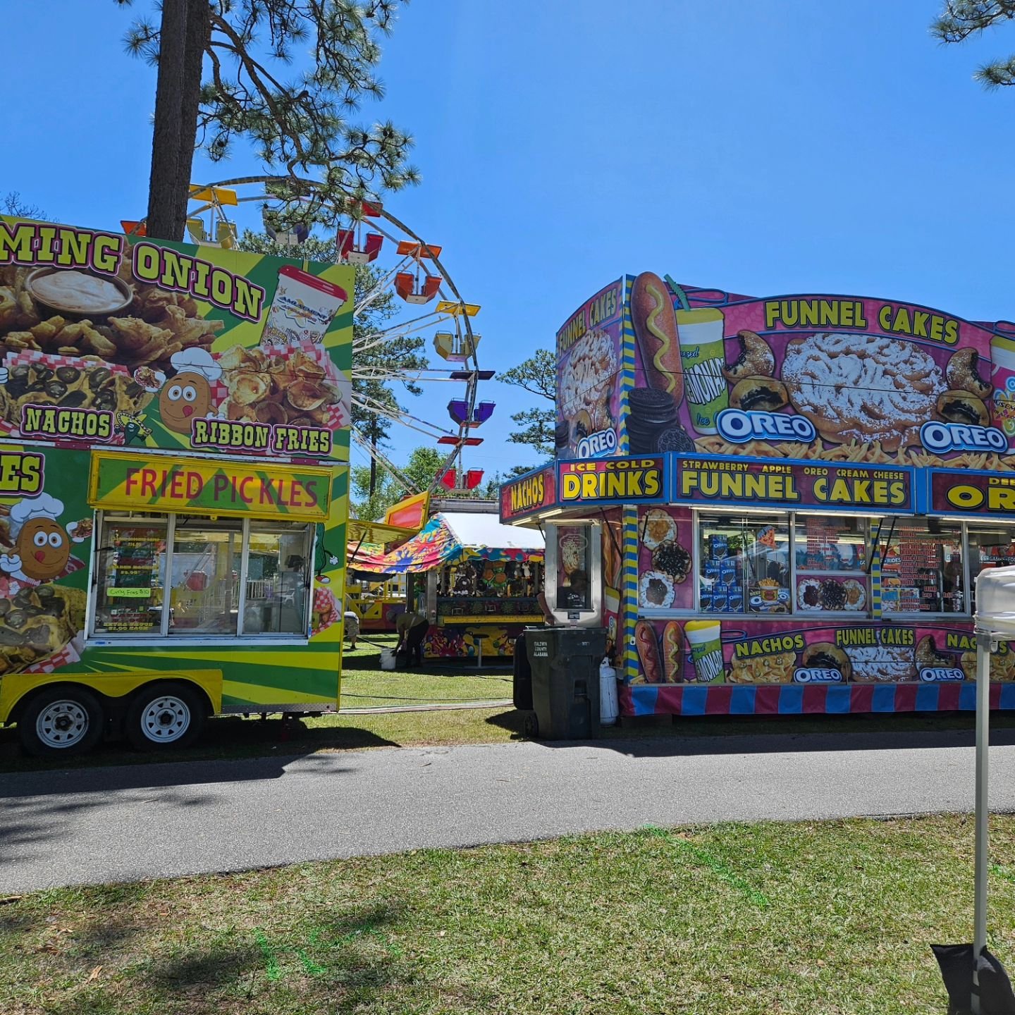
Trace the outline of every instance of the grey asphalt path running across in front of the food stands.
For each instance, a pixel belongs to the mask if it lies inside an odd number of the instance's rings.
[[[1015,731],[991,806],[1015,811]],[[568,832],[968,811],[972,734],[382,748],[0,775],[0,895]]]

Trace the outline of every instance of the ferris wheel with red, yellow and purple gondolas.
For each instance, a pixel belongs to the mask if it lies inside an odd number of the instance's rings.
[[[235,212],[229,209],[248,204],[261,208],[264,227],[276,244],[296,246],[310,235],[309,226],[277,223],[293,219],[291,210],[300,201],[321,206],[317,185],[312,180],[295,181],[299,194],[293,197],[294,181],[289,177],[240,177],[207,185],[191,186],[191,208],[187,230],[197,244],[232,247],[239,230]],[[279,194],[284,193],[284,197]],[[476,355],[481,336],[472,327],[479,306],[465,300],[442,261],[443,248],[425,242],[381,202],[349,199],[342,207],[327,206],[327,218],[334,222],[335,250],[339,263],[369,266],[366,286],[357,286],[354,297],[356,320],[370,320],[371,308],[384,308],[383,324],[357,328],[352,345],[352,379],[380,381],[385,385],[411,383],[444,384],[449,387],[448,421],[434,422],[401,408],[394,409],[366,394],[363,385],[353,384],[352,402],[364,413],[390,420],[394,425],[423,434],[447,451],[429,491],[463,493],[482,481],[480,469],[466,468],[464,451],[482,444],[476,434],[493,413],[492,401],[479,398],[479,385],[493,377],[493,370],[479,367]],[[298,223],[298,214],[294,218]],[[274,223],[274,224],[273,224]],[[144,222],[121,223],[129,234],[143,235]],[[444,361],[441,366],[405,366],[397,357],[370,355],[386,343],[432,335],[432,347]],[[413,492],[413,484],[357,426],[351,427],[352,442],[378,466],[396,477]]]

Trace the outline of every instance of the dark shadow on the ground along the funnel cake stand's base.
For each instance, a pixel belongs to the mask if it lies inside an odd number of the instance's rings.
[[[512,709],[490,716],[486,722],[510,730],[512,740],[527,740],[522,732],[526,715]],[[646,719],[644,725],[635,721],[600,727],[599,736],[591,739],[536,739],[545,747],[605,747],[633,757],[905,750],[971,747],[975,742],[974,717],[964,712]],[[991,744],[1015,745],[1015,716],[991,716]]]

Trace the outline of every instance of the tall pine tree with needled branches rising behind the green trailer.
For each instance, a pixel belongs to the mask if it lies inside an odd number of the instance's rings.
[[[129,6],[133,0],[115,0]],[[402,0],[405,2],[405,0]],[[418,182],[412,138],[392,123],[349,122],[380,99],[380,36],[399,0],[157,0],[134,22],[128,52],[158,67],[148,189],[148,235],[182,240],[195,146],[212,161],[236,139],[256,148],[275,193],[301,221],[332,224],[355,203]],[[313,65],[289,72],[293,54]],[[204,75],[207,68],[207,76]]]

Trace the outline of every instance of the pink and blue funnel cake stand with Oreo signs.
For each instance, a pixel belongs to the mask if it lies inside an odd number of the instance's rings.
[[[626,715],[972,708],[974,580],[1015,562],[1013,335],[623,278],[558,334],[557,458],[501,520],[545,527],[547,599],[607,627]],[[992,675],[1015,707],[1007,642]]]

